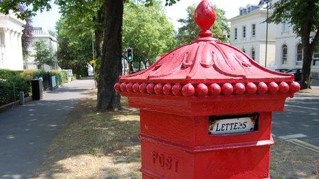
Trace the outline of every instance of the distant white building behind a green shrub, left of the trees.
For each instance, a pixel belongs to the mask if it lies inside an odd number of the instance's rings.
[[[45,69],[45,71],[49,71],[52,69],[58,69],[57,65],[55,67],[50,67],[47,64],[44,64],[43,66],[36,64],[34,62],[34,57],[33,55],[36,53],[34,51],[34,43],[39,42],[42,40],[48,47],[52,49],[52,52],[56,54],[56,51],[58,51],[58,43],[56,41],[56,38],[54,36],[51,36],[49,32],[47,32],[45,29],[42,27],[34,27],[32,30],[32,43],[29,46],[30,50],[30,56],[28,57],[28,62],[25,64],[25,69]]]

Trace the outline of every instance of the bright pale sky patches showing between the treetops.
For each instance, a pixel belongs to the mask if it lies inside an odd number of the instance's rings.
[[[162,0],[164,1],[164,0]],[[177,22],[178,19],[186,18],[186,8],[192,4],[197,5],[201,0],[180,0],[175,5],[166,8],[168,19],[174,24],[175,29],[181,27]],[[260,0],[209,0],[218,8],[225,10],[228,19],[239,15],[239,8],[248,4],[258,4]],[[58,5],[52,5],[49,12],[38,12],[33,18],[34,27],[43,27],[45,29],[55,29],[56,21],[61,14],[58,12]]]

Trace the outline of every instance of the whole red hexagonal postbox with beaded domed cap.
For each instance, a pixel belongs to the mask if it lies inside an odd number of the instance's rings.
[[[270,178],[272,112],[300,90],[212,38],[213,6],[195,12],[199,38],[115,89],[140,108],[143,178]]]

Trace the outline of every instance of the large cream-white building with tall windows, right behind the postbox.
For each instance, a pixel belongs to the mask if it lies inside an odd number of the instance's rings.
[[[266,5],[247,5],[239,9],[239,16],[230,19],[230,43],[245,51],[261,65],[265,65],[266,7]],[[270,10],[270,16],[272,12]],[[316,47],[313,59],[311,75],[318,78],[319,45]],[[269,24],[267,67],[270,66],[276,69],[301,69],[303,66],[301,38],[294,33],[292,25],[288,23]]]

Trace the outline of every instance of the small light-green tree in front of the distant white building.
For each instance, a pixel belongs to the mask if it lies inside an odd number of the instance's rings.
[[[47,64],[54,66],[56,64],[56,57],[54,56],[53,49],[48,47],[43,40],[40,40],[33,44],[34,62],[36,64]]]

